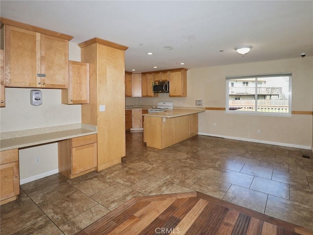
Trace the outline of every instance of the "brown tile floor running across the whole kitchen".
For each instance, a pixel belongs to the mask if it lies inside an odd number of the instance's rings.
[[[0,233],[73,235],[135,196],[193,190],[313,230],[310,150],[207,136],[157,150],[127,132],[121,164],[22,185],[0,207]]]

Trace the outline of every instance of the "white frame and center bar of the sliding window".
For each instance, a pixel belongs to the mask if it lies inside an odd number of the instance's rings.
[[[257,111],[257,88],[258,88],[258,78],[264,78],[264,77],[282,77],[282,76],[288,76],[289,77],[289,108],[288,113],[276,113],[276,112],[258,112]],[[233,79],[245,79],[245,78],[254,78],[255,79],[255,111],[239,111],[239,110],[229,110],[229,80]],[[283,72],[283,73],[266,73],[266,74],[253,74],[253,75],[237,75],[237,76],[226,76],[226,106],[225,106],[225,112],[229,114],[250,114],[250,115],[266,115],[266,116],[284,116],[288,117],[291,116],[291,85],[292,85],[292,72]]]

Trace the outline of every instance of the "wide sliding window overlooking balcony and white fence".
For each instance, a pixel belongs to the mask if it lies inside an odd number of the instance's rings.
[[[226,77],[226,111],[291,114],[291,73]]]

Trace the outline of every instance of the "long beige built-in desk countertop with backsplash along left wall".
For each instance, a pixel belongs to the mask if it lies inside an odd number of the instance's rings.
[[[0,151],[97,134],[97,127],[82,123],[0,133]]]

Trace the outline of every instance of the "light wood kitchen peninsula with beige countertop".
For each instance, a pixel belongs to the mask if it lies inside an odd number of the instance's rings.
[[[143,114],[143,141],[148,147],[163,149],[198,134],[198,114],[205,110],[173,109]]]

